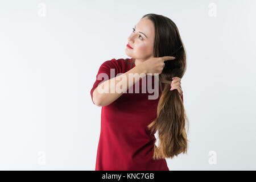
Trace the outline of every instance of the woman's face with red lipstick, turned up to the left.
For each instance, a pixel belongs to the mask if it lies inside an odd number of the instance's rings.
[[[133,48],[125,49],[127,56],[133,59],[146,60],[154,57],[155,28],[151,20],[146,17],[139,20],[128,38],[128,44]]]

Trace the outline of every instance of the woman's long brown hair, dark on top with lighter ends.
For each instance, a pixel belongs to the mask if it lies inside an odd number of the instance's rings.
[[[146,14],[142,18],[144,17],[154,23],[154,57],[175,56],[176,58],[164,61],[165,66],[159,75],[162,94],[158,102],[157,117],[147,126],[151,134],[158,130],[159,147],[154,146],[152,159],[174,158],[180,153],[187,154],[189,140],[185,122],[187,121],[188,124],[188,118],[177,89],[170,90],[170,84],[164,84],[162,88],[162,81],[172,81],[172,77],[183,77],[187,68],[185,48],[179,30],[170,18],[158,14]]]

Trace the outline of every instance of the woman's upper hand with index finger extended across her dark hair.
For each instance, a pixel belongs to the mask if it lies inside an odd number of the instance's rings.
[[[162,73],[164,68],[164,61],[174,60],[173,56],[163,56],[163,57],[151,57],[150,59],[139,64],[148,73]]]

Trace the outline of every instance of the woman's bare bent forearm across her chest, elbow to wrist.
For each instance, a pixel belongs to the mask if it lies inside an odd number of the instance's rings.
[[[129,82],[129,73],[131,74],[130,77],[132,78],[130,82]],[[126,92],[127,89],[129,89],[137,81],[139,81],[142,77],[146,75],[147,75],[146,70],[143,69],[141,64],[139,64],[138,66],[135,66],[134,68],[130,69],[126,73],[123,73],[122,75],[119,75],[114,78],[110,78],[109,80],[102,82],[93,91],[93,102],[97,106],[106,106],[111,104],[112,102],[117,100],[120,96],[122,96],[122,94]],[[120,90],[118,91],[118,89]]]

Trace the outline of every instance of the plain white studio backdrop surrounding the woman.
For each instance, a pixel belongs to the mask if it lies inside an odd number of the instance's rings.
[[[256,1],[0,1],[0,169],[94,170],[98,68],[125,54],[144,14],[172,19],[188,155],[170,170],[256,169]],[[157,137],[157,135],[156,135]]]

